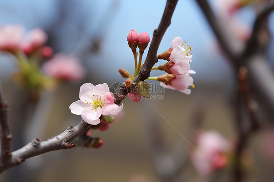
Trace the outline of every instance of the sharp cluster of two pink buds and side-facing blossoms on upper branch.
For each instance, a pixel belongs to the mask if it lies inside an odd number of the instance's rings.
[[[131,30],[127,36],[127,41],[129,47],[132,49],[134,59],[135,59],[135,72],[131,75],[128,71],[124,69],[119,69],[119,73],[124,78],[128,78],[125,81],[126,87],[131,87],[133,79],[139,73],[142,67],[142,55],[144,49],[149,43],[149,36],[146,32],[137,34],[135,30]],[[139,62],[137,64],[137,52],[136,49],[139,48]],[[149,77],[148,80],[157,80],[161,82],[161,85],[167,89],[178,90],[185,94],[190,94],[190,88],[194,88],[193,78],[190,74],[196,73],[190,69],[190,63],[192,59],[191,46],[187,45],[187,42],[183,41],[181,37],[175,37],[171,43],[171,47],[164,53],[157,56],[158,59],[166,60],[164,65],[159,65],[158,67],[152,68],[152,70],[161,70],[166,72],[164,75]],[[133,102],[139,102],[143,97],[149,97],[149,86],[143,81],[139,82],[137,87],[128,93],[129,98]]]

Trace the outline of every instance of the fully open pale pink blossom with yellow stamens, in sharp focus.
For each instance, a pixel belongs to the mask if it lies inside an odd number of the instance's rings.
[[[80,100],[72,103],[69,109],[73,114],[81,115],[82,119],[91,125],[98,125],[101,115],[115,116],[123,109],[123,105],[114,104],[114,95],[106,83],[96,86],[91,83],[83,84],[79,98]]]

